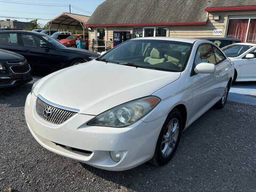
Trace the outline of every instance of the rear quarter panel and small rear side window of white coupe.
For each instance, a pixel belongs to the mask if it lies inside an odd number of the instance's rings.
[[[226,56],[220,51],[220,49],[214,45],[213,47],[213,52],[215,55],[215,60],[216,60],[216,72],[215,74],[217,75],[217,79],[220,82],[220,89],[219,89],[219,94],[220,97],[222,96],[224,90],[226,89],[226,86],[229,81],[229,69],[231,67],[231,61],[229,61]]]

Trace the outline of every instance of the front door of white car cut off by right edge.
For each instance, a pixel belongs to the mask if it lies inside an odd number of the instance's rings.
[[[242,59],[242,72],[240,78],[247,79],[247,81],[256,81],[256,49],[250,53],[254,54],[254,58]],[[245,55],[246,56],[246,55]]]

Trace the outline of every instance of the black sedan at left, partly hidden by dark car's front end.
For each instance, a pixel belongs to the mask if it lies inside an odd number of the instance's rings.
[[[99,56],[67,48],[49,35],[32,31],[0,31],[0,48],[23,55],[35,73],[52,73]]]

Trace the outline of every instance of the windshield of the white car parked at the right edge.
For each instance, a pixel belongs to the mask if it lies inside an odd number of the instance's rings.
[[[238,57],[251,47],[252,46],[250,45],[233,44],[223,47],[221,50],[227,55],[227,57]]]

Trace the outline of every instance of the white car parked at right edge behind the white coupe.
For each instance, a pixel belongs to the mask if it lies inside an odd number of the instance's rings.
[[[256,81],[256,44],[236,43],[222,51],[235,64],[234,81]]]

